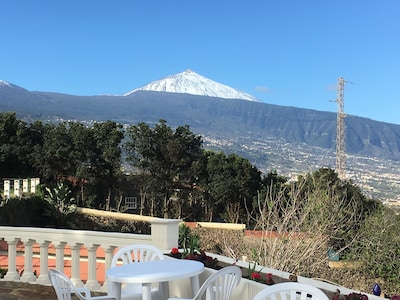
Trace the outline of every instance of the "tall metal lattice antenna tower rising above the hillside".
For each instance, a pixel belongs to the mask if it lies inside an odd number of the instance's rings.
[[[339,77],[337,83],[337,127],[336,127],[336,172],[342,180],[346,179],[346,149],[344,141],[344,84],[343,77]]]

